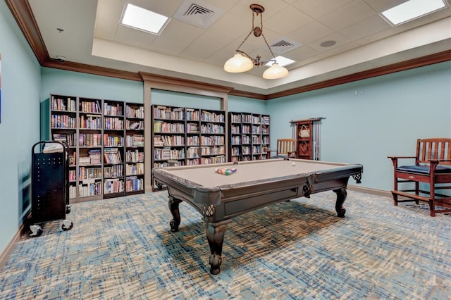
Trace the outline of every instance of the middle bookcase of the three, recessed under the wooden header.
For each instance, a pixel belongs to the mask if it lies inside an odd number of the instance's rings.
[[[226,113],[152,105],[151,168],[226,162]],[[162,189],[152,180],[152,190]]]

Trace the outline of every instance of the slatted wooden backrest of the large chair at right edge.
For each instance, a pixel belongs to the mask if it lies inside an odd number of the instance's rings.
[[[451,139],[433,138],[416,141],[416,164],[428,163],[429,159],[440,161],[442,165],[451,165]]]

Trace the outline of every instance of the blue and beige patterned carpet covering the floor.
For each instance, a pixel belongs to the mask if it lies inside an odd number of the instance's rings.
[[[72,206],[72,230],[24,235],[0,273],[0,299],[451,299],[451,215],[348,191],[234,218],[219,275],[201,215],[167,192]]]

